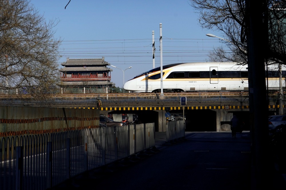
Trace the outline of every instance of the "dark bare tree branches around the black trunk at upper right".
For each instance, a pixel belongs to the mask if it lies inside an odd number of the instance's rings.
[[[267,62],[286,63],[286,9],[285,0],[267,1],[268,10],[261,26],[261,40],[265,42],[265,51],[261,52]],[[215,48],[210,60],[236,61],[247,63],[247,10],[245,0],[190,0],[191,6],[199,14],[202,28],[219,31],[226,40],[222,40],[230,51]]]

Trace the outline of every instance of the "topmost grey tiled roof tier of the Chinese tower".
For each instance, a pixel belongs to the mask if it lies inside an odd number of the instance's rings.
[[[73,65],[110,65],[110,63],[104,61],[104,57],[102,59],[69,59],[67,58],[66,62],[61,63],[62,66],[73,66]]]

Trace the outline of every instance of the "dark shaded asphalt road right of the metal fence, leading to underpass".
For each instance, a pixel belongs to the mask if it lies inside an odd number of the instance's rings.
[[[156,133],[152,154],[89,171],[53,189],[255,189],[249,131],[186,132],[186,140],[166,144]],[[284,181],[285,182],[285,181]],[[273,189],[285,189],[277,183]]]

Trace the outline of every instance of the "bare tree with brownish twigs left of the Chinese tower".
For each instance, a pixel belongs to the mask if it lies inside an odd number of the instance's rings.
[[[0,0],[0,89],[50,93],[58,82],[58,48],[53,28],[29,0]]]

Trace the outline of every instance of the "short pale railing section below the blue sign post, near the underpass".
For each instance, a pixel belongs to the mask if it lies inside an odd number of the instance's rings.
[[[168,121],[166,128],[166,142],[185,136],[185,123],[183,120]]]

